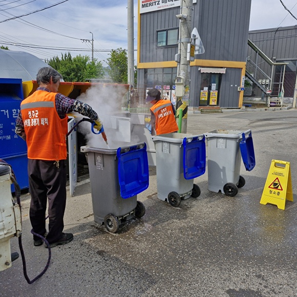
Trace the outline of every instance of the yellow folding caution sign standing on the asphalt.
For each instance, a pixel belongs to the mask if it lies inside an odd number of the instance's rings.
[[[284,210],[286,199],[293,201],[290,162],[272,160],[260,203]]]

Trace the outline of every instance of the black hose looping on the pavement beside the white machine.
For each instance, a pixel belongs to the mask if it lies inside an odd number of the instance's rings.
[[[9,164],[8,164],[9,165]],[[10,166],[10,165],[9,165]],[[11,166],[10,166],[11,167]],[[21,207],[20,207],[20,186],[18,185],[18,183],[16,182],[15,178],[13,176],[10,177],[11,181],[13,182],[13,185],[14,185],[14,188],[15,188],[15,196],[16,196],[16,201],[17,201],[17,204],[19,206],[19,210],[20,210],[20,216],[21,216],[21,219],[22,219],[22,210],[21,210]],[[18,245],[19,245],[19,250],[20,250],[20,254],[22,256],[22,262],[23,262],[23,271],[24,271],[24,276],[25,276],[25,279],[27,281],[28,284],[33,284],[36,280],[38,280],[42,275],[45,274],[45,272],[47,271],[47,269],[49,268],[49,265],[50,265],[50,261],[51,261],[51,248],[50,248],[50,244],[49,242],[41,235],[35,233],[33,231],[33,229],[31,230],[31,233],[37,237],[40,237],[44,242],[45,244],[47,245],[48,249],[49,249],[49,257],[48,257],[48,262],[44,268],[43,271],[41,271],[36,278],[34,278],[33,280],[30,280],[29,277],[28,277],[28,274],[27,274],[27,265],[26,265],[26,259],[25,259],[25,253],[24,253],[24,249],[23,249],[23,243],[22,243],[22,235],[20,235],[18,237]]]

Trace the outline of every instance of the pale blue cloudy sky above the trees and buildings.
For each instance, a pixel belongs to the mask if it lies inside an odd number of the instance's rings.
[[[280,0],[252,0],[249,30],[296,25],[297,0],[282,2],[293,16]],[[137,0],[134,4],[136,49]],[[70,50],[72,56],[91,57],[93,36],[94,58],[103,61],[109,50],[127,48],[126,7],[127,0],[0,0],[0,45],[40,59]]]

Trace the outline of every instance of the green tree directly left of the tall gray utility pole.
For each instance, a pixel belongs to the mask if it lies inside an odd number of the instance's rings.
[[[112,50],[107,58],[109,77],[116,83],[127,83],[128,81],[128,59],[127,52],[122,48]]]

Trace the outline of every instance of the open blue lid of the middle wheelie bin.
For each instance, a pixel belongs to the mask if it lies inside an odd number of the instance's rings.
[[[203,175],[206,167],[205,136],[195,136],[190,142],[185,137],[182,144],[184,178],[193,179]]]

